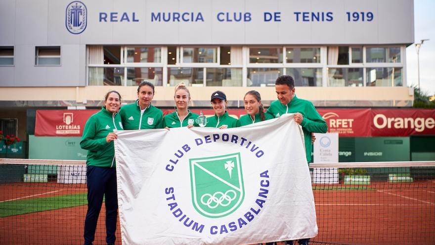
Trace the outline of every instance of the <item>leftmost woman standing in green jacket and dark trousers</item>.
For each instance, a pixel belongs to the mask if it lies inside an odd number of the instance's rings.
[[[106,243],[114,244],[118,196],[116,186],[115,149],[116,131],[123,129],[117,113],[121,96],[110,91],[104,97],[104,108],[89,117],[83,130],[80,147],[87,151],[87,214],[85,219],[85,245],[95,238],[98,215],[105,197]]]

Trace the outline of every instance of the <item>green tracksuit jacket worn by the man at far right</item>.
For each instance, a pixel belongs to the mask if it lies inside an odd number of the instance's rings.
[[[270,104],[266,113],[274,117],[280,117],[285,113],[296,113],[299,112],[304,116],[301,122],[302,130],[304,131],[304,141],[305,141],[305,153],[306,161],[309,163],[311,161],[311,133],[326,133],[328,131],[328,126],[325,120],[317,112],[314,105],[305,99],[295,97],[290,101],[290,103],[283,105],[279,100],[275,100]]]

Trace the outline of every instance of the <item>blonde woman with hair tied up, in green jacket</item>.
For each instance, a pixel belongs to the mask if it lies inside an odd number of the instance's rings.
[[[163,126],[166,129],[193,127],[199,115],[190,112],[187,108],[190,102],[190,93],[184,83],[179,83],[175,86],[174,100],[176,110],[163,118]]]

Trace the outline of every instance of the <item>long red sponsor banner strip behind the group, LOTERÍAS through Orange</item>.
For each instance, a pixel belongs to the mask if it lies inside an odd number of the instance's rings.
[[[174,109],[164,109],[164,115]],[[213,109],[191,109],[205,116]],[[340,137],[435,135],[434,109],[342,109],[319,108],[328,124],[328,132]],[[98,110],[37,110],[36,136],[82,136],[87,119]],[[242,108],[228,109],[236,118],[245,115]]]

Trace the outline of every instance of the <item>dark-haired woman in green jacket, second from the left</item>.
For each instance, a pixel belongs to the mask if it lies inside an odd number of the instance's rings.
[[[154,85],[150,82],[141,82],[137,88],[136,102],[121,107],[121,116],[124,129],[162,129],[163,112],[151,104],[154,97]]]

